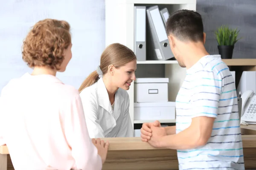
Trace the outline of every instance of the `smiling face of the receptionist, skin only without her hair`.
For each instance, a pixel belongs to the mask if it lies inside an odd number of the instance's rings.
[[[113,67],[113,84],[124,90],[129,90],[131,82],[136,79],[135,71],[137,69],[136,59],[128,62],[126,65],[115,68]]]

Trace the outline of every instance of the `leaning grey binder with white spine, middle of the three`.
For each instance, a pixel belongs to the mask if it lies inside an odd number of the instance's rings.
[[[165,25],[158,6],[147,8],[146,11],[148,26],[150,27],[147,31],[147,59],[167,60],[173,58],[174,55],[169,45]]]

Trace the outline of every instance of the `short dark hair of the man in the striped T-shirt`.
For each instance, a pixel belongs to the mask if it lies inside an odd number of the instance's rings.
[[[166,22],[167,35],[172,34],[181,41],[204,41],[204,26],[201,15],[196,11],[175,11]]]

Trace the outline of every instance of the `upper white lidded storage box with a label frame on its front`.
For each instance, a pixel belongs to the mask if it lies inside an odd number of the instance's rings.
[[[137,78],[134,102],[168,102],[169,78]]]

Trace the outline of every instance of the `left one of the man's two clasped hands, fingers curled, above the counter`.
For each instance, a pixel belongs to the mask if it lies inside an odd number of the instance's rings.
[[[151,127],[161,127],[161,124],[158,120],[154,121],[153,123],[143,123],[140,129],[140,137],[143,142],[148,142],[152,136]]]

